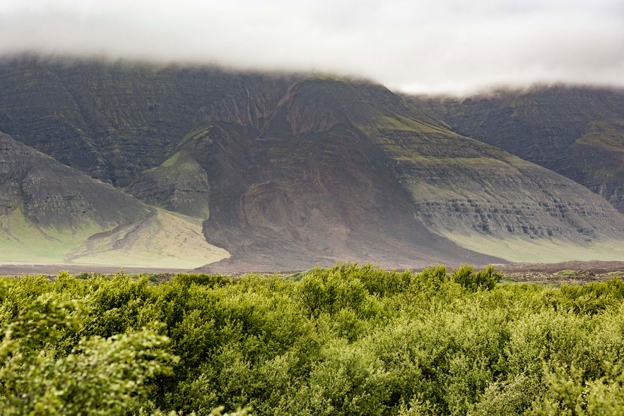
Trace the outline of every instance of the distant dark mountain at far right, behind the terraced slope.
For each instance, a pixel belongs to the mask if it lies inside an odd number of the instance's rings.
[[[556,85],[408,100],[454,131],[563,174],[624,212],[624,90]]]

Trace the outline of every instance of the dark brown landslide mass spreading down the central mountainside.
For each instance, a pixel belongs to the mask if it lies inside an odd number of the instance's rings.
[[[204,148],[212,184],[208,239],[249,266],[293,268],[339,258],[409,266],[441,253],[488,261],[415,218],[382,151],[340,115],[336,102],[322,114],[307,109],[307,126],[293,122],[306,88],[299,85],[260,133],[232,124],[211,132]]]

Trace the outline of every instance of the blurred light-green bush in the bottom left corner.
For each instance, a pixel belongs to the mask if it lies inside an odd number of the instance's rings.
[[[66,278],[66,276],[62,276]],[[3,305],[4,306],[4,305]],[[81,326],[76,302],[41,295],[3,319],[0,408],[4,415],[109,415],[148,404],[146,381],[170,372],[168,339],[143,329],[108,339],[81,337],[69,355],[59,347]]]

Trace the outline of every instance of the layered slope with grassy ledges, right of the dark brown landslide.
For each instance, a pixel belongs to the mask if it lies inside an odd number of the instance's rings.
[[[370,100],[361,88],[335,88],[344,102],[369,107],[354,121],[384,150],[431,230],[513,261],[624,255],[623,216],[583,186],[459,136],[382,89]]]

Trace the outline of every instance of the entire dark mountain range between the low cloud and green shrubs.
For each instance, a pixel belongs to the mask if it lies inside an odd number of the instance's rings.
[[[333,76],[4,59],[0,261],[623,258],[623,104],[591,88],[459,100]]]

